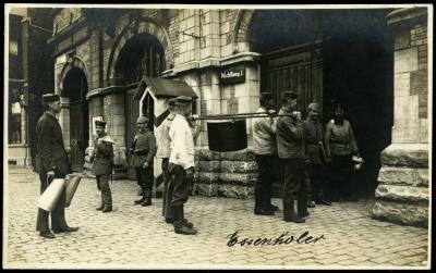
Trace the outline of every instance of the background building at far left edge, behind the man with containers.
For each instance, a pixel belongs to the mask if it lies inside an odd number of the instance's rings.
[[[32,167],[35,162],[35,127],[44,109],[41,94],[53,89],[50,9],[12,8],[9,15],[8,163]],[[17,96],[16,96],[17,95]],[[11,106],[20,104],[13,114]]]

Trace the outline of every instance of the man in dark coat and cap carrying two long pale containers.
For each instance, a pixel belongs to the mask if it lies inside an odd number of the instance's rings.
[[[65,178],[71,172],[61,126],[57,114],[61,112],[61,102],[58,95],[43,95],[46,112],[36,124],[36,171],[39,173],[40,193],[43,194],[53,178]],[[39,209],[36,231],[45,238],[55,238],[48,226],[49,212]],[[78,227],[70,227],[65,221],[65,190],[62,191],[58,203],[51,212],[51,228],[53,233],[76,232]]]

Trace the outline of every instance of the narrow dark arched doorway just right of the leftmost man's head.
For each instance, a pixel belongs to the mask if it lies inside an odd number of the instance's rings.
[[[89,115],[84,72],[72,67],[62,82],[62,96],[70,100],[70,147],[73,172],[83,171],[85,149],[89,141]]]

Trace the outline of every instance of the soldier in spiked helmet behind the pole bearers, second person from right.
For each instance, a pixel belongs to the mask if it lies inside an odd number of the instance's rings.
[[[311,161],[308,165],[308,176],[312,186],[311,199],[315,200],[317,204],[330,206],[331,202],[324,196],[327,184],[327,181],[323,182],[326,152],[324,148],[323,125],[319,122],[319,104],[310,103],[307,112],[308,115],[304,121],[304,127],[306,133],[305,153]],[[307,203],[307,206],[311,207],[310,203]]]

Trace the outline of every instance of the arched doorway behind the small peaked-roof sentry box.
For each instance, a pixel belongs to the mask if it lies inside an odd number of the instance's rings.
[[[134,100],[137,83],[144,77],[159,77],[166,70],[165,51],[159,40],[149,34],[138,34],[130,38],[121,49],[114,66],[117,85],[125,87],[125,146],[131,147],[136,132],[136,119],[145,115],[150,119],[149,129],[154,131],[154,100],[144,101],[140,108]],[[126,149],[128,160],[131,159]],[[134,170],[129,167],[129,177],[134,176]]]

